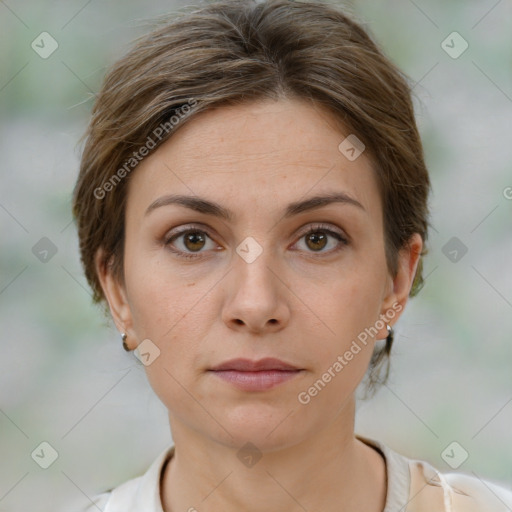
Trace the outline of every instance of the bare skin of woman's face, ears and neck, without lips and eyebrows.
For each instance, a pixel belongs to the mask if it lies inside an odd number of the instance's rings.
[[[166,512],[384,509],[385,463],[355,438],[354,394],[385,325],[307,405],[297,398],[380,315],[405,307],[422,247],[415,234],[389,273],[370,160],[338,149],[349,133],[302,100],[224,106],[180,127],[130,177],[123,282],[101,267],[101,251],[97,270],[129,347],[150,339],[160,350],[146,371],[176,447],[161,486]],[[283,216],[289,203],[328,192],[362,207]],[[167,194],[215,201],[233,219],[175,204],[145,213]],[[318,223],[348,244],[305,236]],[[204,240],[166,245],[179,227],[203,229]],[[236,252],[246,237],[262,249],[251,263]],[[241,391],[208,371],[235,357],[276,357],[303,371]],[[247,442],[262,455],[252,467],[237,457]]]

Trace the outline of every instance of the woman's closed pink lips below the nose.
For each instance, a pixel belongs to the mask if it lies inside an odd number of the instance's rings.
[[[303,369],[274,358],[232,359],[211,370],[216,377],[243,391],[266,391],[297,377]]]

